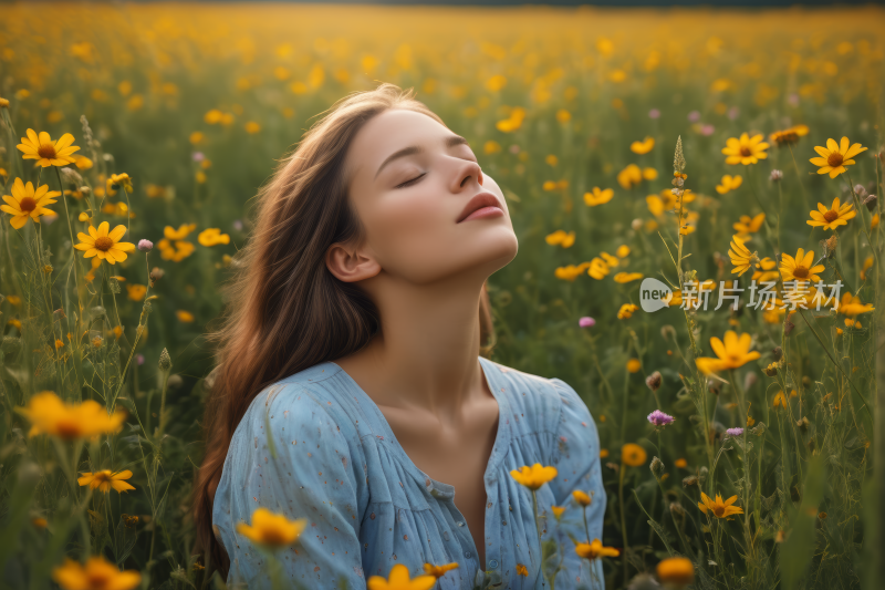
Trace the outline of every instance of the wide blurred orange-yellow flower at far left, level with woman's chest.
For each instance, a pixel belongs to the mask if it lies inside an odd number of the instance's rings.
[[[123,410],[108,415],[107,410],[94,400],[69,404],[51,391],[35,394],[25,407],[15,411],[31,422],[28,436],[52,434],[66,441],[118,432],[126,420]]]

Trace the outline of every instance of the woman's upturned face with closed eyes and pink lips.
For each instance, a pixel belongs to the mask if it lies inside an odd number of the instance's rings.
[[[357,247],[364,278],[383,269],[418,284],[471,273],[481,282],[517,256],[501,189],[483,176],[465,139],[429,116],[406,110],[376,115],[354,137],[346,162],[348,197],[367,232]],[[500,211],[459,221],[483,193]]]

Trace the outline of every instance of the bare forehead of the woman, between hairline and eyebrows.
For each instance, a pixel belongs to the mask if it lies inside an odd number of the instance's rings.
[[[442,138],[454,135],[438,121],[405,108],[388,108],[372,117],[360,130],[347,154],[354,176],[374,175],[394,152],[409,146],[430,149],[442,146]]]

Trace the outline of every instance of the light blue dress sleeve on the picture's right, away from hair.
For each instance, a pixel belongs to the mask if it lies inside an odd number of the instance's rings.
[[[571,536],[579,542],[602,540],[606,498],[600,466],[600,436],[593,416],[574,389],[561,379],[553,377],[551,382],[560,393],[562,415],[556,448],[552,454],[553,465],[559,473],[550,485],[556,505],[566,508],[556,524],[558,538],[564,555],[562,569],[556,576],[556,588],[604,589],[602,561],[595,559],[587,562],[579,557],[570,538]],[[572,496],[574,490],[590,496],[590,506],[581,506]]]

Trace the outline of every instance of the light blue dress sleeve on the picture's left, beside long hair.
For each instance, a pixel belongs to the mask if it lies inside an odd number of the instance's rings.
[[[352,457],[358,451],[308,390],[274,387],[259,394],[238,426],[216,491],[212,521],[230,558],[228,584],[271,586],[266,553],[237,531],[264,507],[308,520],[294,545],[274,552],[285,587],[339,588],[343,581],[365,588],[357,501],[363,460]]]

